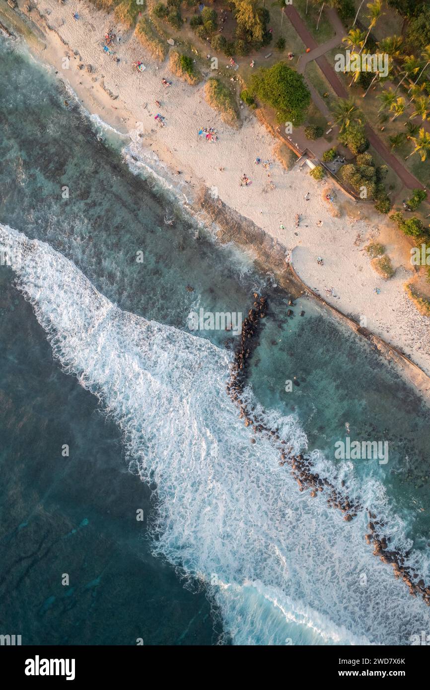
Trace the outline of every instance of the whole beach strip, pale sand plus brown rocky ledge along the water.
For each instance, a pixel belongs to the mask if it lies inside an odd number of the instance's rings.
[[[22,9],[24,2],[20,0],[19,4]],[[5,5],[1,0],[0,17]],[[73,19],[75,11],[79,12],[78,21]],[[298,166],[287,172],[275,160],[272,150],[277,139],[253,115],[246,115],[239,131],[222,123],[219,114],[204,101],[202,85],[188,86],[172,77],[173,86],[166,93],[161,79],[164,75],[170,78],[168,68],[144,55],[133,31],[116,29],[122,40],[119,46],[115,45],[120,63],[114,63],[101,48],[104,33],[117,26],[113,17],[84,1],[70,0],[59,5],[45,0],[39,8],[32,9],[30,19],[38,37],[37,43],[30,41],[32,54],[55,68],[57,76],[70,84],[92,115],[121,133],[138,131],[137,144],[142,151],[150,152],[171,171],[172,179],[189,190],[187,200],[197,197],[197,209],[215,222],[220,242],[233,241],[251,250],[257,265],[275,273],[282,287],[319,299],[367,339],[373,333],[373,344],[407,373],[421,393],[430,397],[430,319],[418,313],[403,290],[404,282],[413,274],[407,264],[409,245],[405,242],[404,255],[396,257],[398,270],[389,282],[381,281],[373,273],[363,252],[369,239],[379,239],[380,233],[389,237],[392,233],[391,228],[382,225],[387,225],[384,217],[364,205],[358,208],[339,191],[335,194],[338,204],[331,208],[323,201],[324,183],[305,179],[306,172]],[[24,38],[28,41],[28,37]],[[66,54],[70,68],[62,69]],[[142,59],[142,55],[146,70],[137,74],[131,63]],[[77,69],[80,65],[82,68]],[[166,114],[164,128],[154,123],[156,109],[152,103],[160,97],[166,99],[161,108]],[[219,141],[208,143],[198,137],[200,126],[214,126]],[[257,156],[271,161],[275,189],[268,189],[267,173],[253,163]],[[253,181],[250,187],[239,184],[243,171]],[[216,199],[209,192],[213,188]],[[304,201],[308,190],[311,199]],[[297,211],[302,216],[298,233],[293,224]],[[317,219],[322,220],[320,226]],[[277,223],[284,228],[277,228]],[[286,260],[292,248],[295,275],[289,272]],[[317,254],[324,257],[323,267],[317,266]],[[375,294],[375,285],[380,285],[380,295]],[[328,293],[329,287],[332,294],[323,299],[318,293]],[[361,315],[366,317],[367,328],[360,330],[357,326]]]

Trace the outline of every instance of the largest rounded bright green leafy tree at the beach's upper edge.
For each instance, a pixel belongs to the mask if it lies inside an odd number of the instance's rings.
[[[251,79],[251,90],[263,103],[275,108],[278,121],[295,125],[302,123],[311,102],[303,76],[284,62],[260,68]]]

